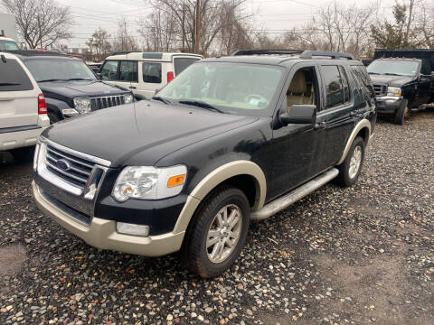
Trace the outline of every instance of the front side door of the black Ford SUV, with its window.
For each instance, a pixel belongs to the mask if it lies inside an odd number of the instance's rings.
[[[291,72],[282,95],[281,107],[275,116],[273,130],[273,163],[269,199],[292,190],[317,174],[316,160],[322,140],[318,138],[314,125],[281,125],[278,116],[293,105],[319,104],[317,69],[312,64],[296,64]]]

